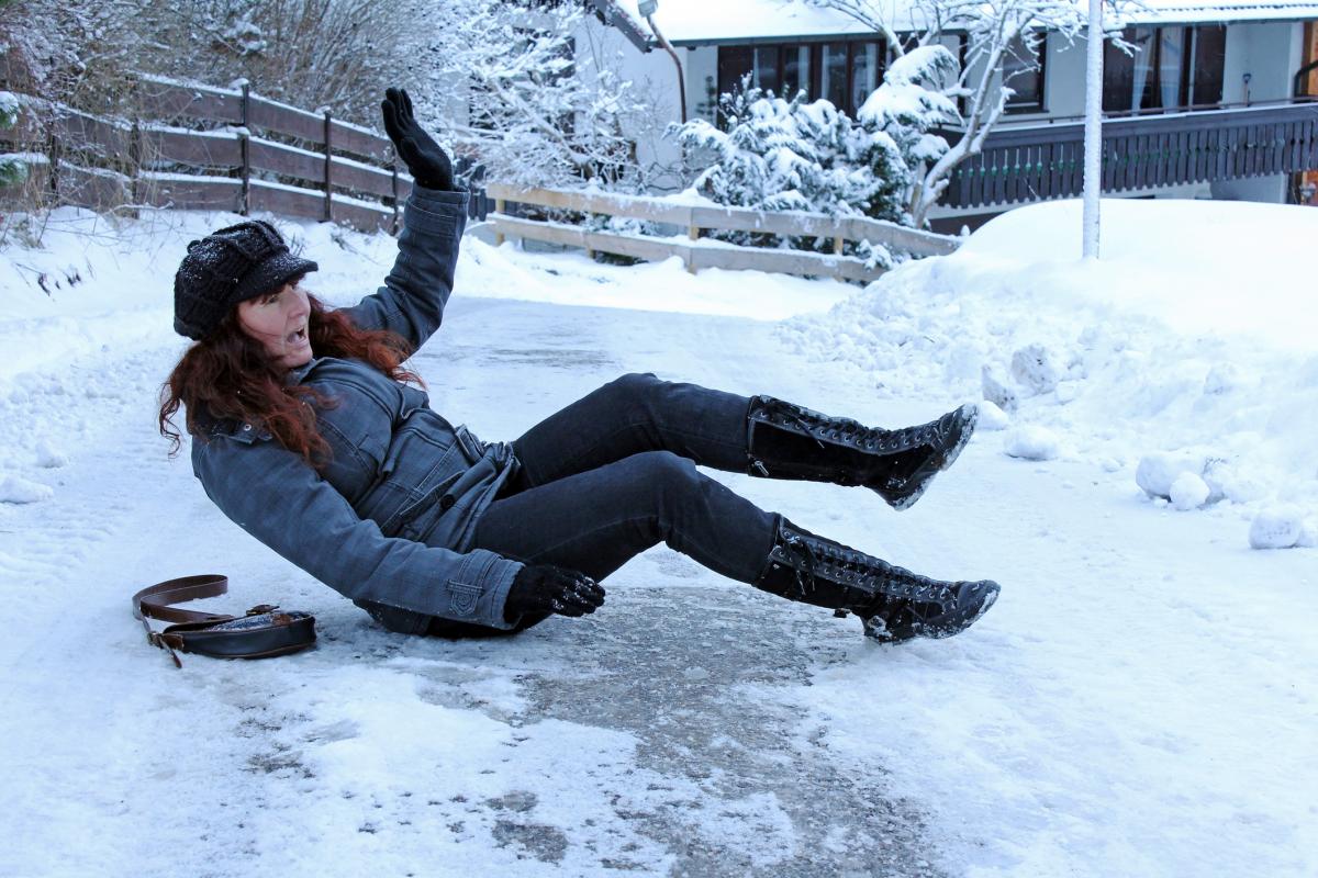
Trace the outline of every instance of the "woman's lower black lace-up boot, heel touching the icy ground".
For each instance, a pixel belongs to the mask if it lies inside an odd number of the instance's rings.
[[[782,517],[755,587],[840,616],[853,612],[866,636],[883,642],[952,637],[985,615],[1000,591],[988,579],[940,582],[913,574]]]

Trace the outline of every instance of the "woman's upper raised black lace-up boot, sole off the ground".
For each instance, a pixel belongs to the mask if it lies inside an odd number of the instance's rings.
[[[894,509],[915,505],[970,441],[979,409],[896,430],[829,417],[772,396],[751,399],[747,473],[771,479],[863,484]]]

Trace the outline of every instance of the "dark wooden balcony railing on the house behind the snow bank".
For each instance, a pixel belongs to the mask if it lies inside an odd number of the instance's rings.
[[[1103,191],[1231,180],[1318,167],[1318,103],[1103,121]],[[1085,124],[999,128],[952,174],[944,207],[1074,197],[1085,179]]]

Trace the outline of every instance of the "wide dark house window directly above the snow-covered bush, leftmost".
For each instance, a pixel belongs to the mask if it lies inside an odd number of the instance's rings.
[[[734,91],[742,76],[751,74],[751,86],[788,100],[805,91],[808,100],[824,97],[854,116],[878,88],[883,68],[879,39],[720,46],[718,93]]]

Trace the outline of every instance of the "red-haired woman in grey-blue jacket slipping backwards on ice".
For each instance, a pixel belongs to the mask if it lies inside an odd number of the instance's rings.
[[[186,407],[207,495],[248,533],[391,631],[522,631],[604,603],[605,579],[664,542],[725,577],[851,612],[880,641],[948,637],[998,584],[938,582],[759,509],[696,466],[870,488],[913,504],[974,430],[963,405],[896,430],[771,396],[623,375],[513,442],[428,407],[406,358],[439,329],[467,192],[389,90],[385,129],[415,178],[385,286],[332,311],[266,222],[188,245],[174,328],[194,338],[162,392]]]

